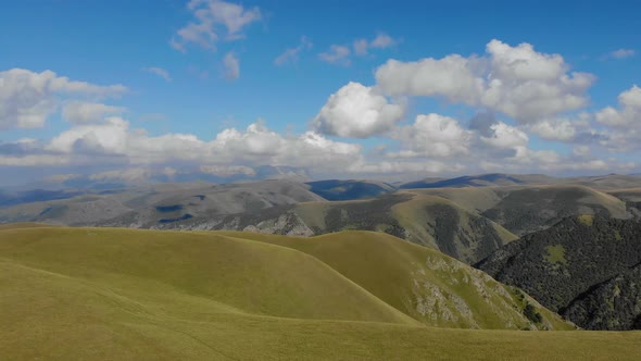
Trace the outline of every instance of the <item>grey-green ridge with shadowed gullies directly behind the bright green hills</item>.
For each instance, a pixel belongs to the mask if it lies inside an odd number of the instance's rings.
[[[108,223],[109,224],[109,223]],[[467,263],[517,237],[475,211],[447,199],[401,191],[366,200],[301,202],[254,211],[158,224],[164,229],[229,229],[313,236],[350,229],[387,233]]]

